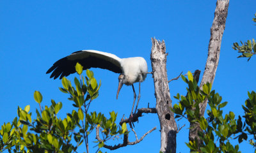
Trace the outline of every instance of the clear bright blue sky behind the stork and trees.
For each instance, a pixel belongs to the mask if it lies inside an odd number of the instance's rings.
[[[256,26],[252,17],[256,12],[256,1],[230,1],[226,29],[221,43],[220,62],[213,89],[228,101],[225,113],[232,111],[243,115],[241,105],[247,91],[255,90],[255,64],[252,57],[237,59],[232,50],[235,41],[256,38]],[[59,91],[60,80],[52,80],[45,72],[58,59],[77,50],[100,50],[119,57],[141,56],[150,64],[150,38],[156,37],[166,43],[168,78],[181,71],[204,71],[210,28],[216,1],[0,1],[0,124],[10,122],[17,116],[17,106],[31,106],[36,117],[37,103],[33,92],[44,96],[42,105],[50,105],[51,99],[61,101],[64,117],[72,111],[67,94]],[[118,74],[108,70],[92,69],[95,78],[102,81],[100,96],[92,103],[91,111],[118,112],[129,117],[132,106],[132,87],[124,86],[116,100]],[[76,75],[68,78],[73,80]],[[201,75],[202,78],[202,75]],[[135,85],[138,92],[138,84]],[[180,79],[170,83],[170,94],[186,94],[186,86]],[[141,107],[154,107],[154,82],[148,75],[141,84]],[[188,122],[177,134],[177,152],[189,152]],[[160,132],[156,114],[145,115],[135,124],[138,136],[149,129],[157,130],[146,136],[137,145],[108,152],[159,152]],[[94,141],[95,134],[90,136]],[[130,141],[134,137],[131,136]],[[118,143],[118,142],[116,142]],[[237,143],[237,142],[235,142]],[[91,152],[95,152],[91,142]],[[252,152],[248,143],[240,150]],[[82,152],[82,150],[79,150]]]

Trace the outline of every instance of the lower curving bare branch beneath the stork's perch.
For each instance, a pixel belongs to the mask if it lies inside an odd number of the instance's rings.
[[[128,134],[125,134],[123,143],[118,143],[118,145],[114,145],[114,146],[104,144],[103,147],[106,148],[106,149],[109,149],[109,150],[115,150],[115,149],[118,149],[118,148],[121,148],[121,147],[125,147],[127,145],[135,145],[136,143],[141,142],[143,140],[143,138],[148,135],[148,133],[151,133],[155,129],[156,129],[156,127],[150,129],[147,133],[145,133],[143,136],[141,136],[141,138],[139,140],[136,140],[135,142],[129,142]],[[103,142],[103,140],[99,136],[99,127],[98,126],[96,127],[96,138],[99,142]]]

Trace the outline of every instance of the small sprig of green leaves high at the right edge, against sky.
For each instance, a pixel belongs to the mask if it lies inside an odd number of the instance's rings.
[[[256,22],[256,13],[255,13],[255,18],[253,18],[253,21]],[[251,59],[252,55],[256,54],[256,43],[255,40],[247,40],[247,42],[242,42],[241,41],[241,46],[239,46],[238,43],[233,43],[234,50],[238,50],[241,55],[239,55],[237,58],[240,57],[246,57],[248,58],[248,61]]]

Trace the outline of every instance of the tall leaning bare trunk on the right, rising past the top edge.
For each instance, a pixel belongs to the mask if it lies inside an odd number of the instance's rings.
[[[228,14],[228,4],[229,0],[218,0],[216,3],[214,20],[211,27],[211,38],[208,47],[208,57],[205,64],[205,71],[200,84],[200,89],[202,89],[202,86],[207,82],[212,84],[215,78],[216,69],[220,59],[221,40]],[[207,106],[207,99],[199,106],[200,114],[204,116],[205,108]],[[190,128],[191,129],[189,130],[189,140],[193,141],[197,139],[198,142],[201,142],[197,135],[198,131],[201,130],[198,124],[190,124]]]

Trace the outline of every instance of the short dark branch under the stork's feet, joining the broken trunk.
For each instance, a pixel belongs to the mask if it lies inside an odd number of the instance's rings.
[[[129,119],[121,119],[120,121],[120,126],[122,126],[122,124],[124,122],[137,122],[138,118],[142,116],[142,113],[156,113],[156,108],[140,108],[138,109],[137,113],[132,114],[132,117]]]

